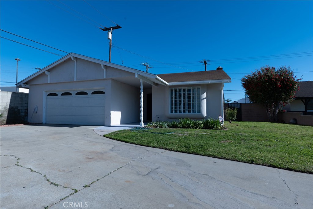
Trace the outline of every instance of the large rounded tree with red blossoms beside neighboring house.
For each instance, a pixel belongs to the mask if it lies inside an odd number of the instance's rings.
[[[261,67],[241,79],[249,100],[265,106],[270,122],[277,121],[280,107],[292,102],[299,90],[299,81],[290,67]]]

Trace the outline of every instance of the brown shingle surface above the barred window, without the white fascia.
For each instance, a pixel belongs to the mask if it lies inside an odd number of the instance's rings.
[[[185,82],[185,81],[210,81],[210,80],[224,80],[230,77],[223,70],[214,71],[198,71],[187,73],[168,73],[157,75],[164,81],[172,82]]]

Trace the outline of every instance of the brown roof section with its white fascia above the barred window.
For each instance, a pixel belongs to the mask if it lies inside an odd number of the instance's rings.
[[[223,70],[169,73],[157,76],[167,81],[169,85],[231,82],[231,78]]]

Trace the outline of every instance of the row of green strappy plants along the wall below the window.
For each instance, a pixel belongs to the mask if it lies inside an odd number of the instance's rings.
[[[223,129],[222,123],[218,119],[192,120],[190,118],[180,118],[179,121],[156,121],[148,123],[147,128],[192,128],[192,129]]]

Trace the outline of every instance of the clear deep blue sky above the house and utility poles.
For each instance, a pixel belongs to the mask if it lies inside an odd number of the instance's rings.
[[[222,66],[232,78],[224,90],[241,90],[225,91],[224,97],[233,101],[244,97],[240,79],[265,65],[289,65],[302,81],[313,80],[313,1],[87,3],[2,0],[0,27],[65,52],[108,61],[107,34],[99,27],[116,23],[122,28],[113,31],[111,62],[142,71],[146,67],[141,63],[147,62],[153,66],[149,72],[163,74],[204,71],[201,60],[211,60],[208,70]],[[0,34],[66,55],[3,31]],[[21,59],[18,81],[35,73],[35,67],[61,58],[4,38],[0,44],[1,86],[14,86],[17,57]]]

